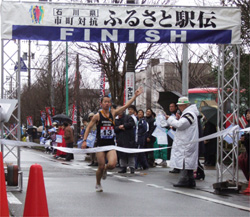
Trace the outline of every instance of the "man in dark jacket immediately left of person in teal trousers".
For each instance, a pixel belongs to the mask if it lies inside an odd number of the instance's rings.
[[[148,108],[146,111],[146,121],[149,125],[149,130],[146,138],[146,148],[154,148],[155,137],[152,136],[152,133],[154,132],[156,126],[154,125],[155,119],[152,116],[152,114],[153,114],[152,109]],[[148,165],[150,167],[154,167],[155,166],[154,152],[153,151],[147,152],[146,155],[147,155]]]

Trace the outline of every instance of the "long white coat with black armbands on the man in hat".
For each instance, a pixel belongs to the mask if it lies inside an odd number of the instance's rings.
[[[171,151],[170,167],[177,169],[197,169],[198,163],[198,142],[184,144],[199,138],[197,106],[190,105],[182,113],[179,120],[170,116],[168,125],[176,128],[174,142]],[[183,167],[185,165],[185,168]]]

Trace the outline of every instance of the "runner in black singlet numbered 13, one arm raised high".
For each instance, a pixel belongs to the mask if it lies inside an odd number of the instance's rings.
[[[94,124],[97,126],[97,147],[100,146],[108,146],[115,145],[114,141],[114,126],[115,126],[115,117],[125,111],[143,92],[143,88],[140,87],[135,91],[135,95],[122,107],[117,109],[111,109],[109,111],[109,107],[111,106],[111,99],[108,96],[104,96],[101,100],[102,110],[94,115],[91,122],[86,128],[83,138],[82,148],[85,149],[87,147],[87,138],[90,132],[90,129]],[[101,178],[106,179],[107,170],[114,169],[117,163],[117,155],[116,150],[111,150],[107,152],[97,152],[96,153],[97,162],[98,162],[98,170],[96,171],[96,191],[102,192],[101,186]],[[106,164],[107,159],[107,164]]]

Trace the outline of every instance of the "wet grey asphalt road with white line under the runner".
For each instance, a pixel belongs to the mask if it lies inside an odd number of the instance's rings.
[[[8,158],[6,158],[8,161]],[[11,163],[9,159],[8,163]],[[72,162],[55,160],[41,151],[22,148],[23,191],[8,191],[11,216],[23,216],[29,169],[43,168],[49,215],[78,216],[250,216],[249,196],[236,193],[217,195],[212,184],[214,168],[206,169],[204,181],[195,189],[174,188],[178,175],[171,168],[155,167],[135,174],[120,175],[118,168],[102,181],[104,192],[95,192],[97,167],[87,166],[84,155]],[[240,174],[244,181],[244,177]],[[7,188],[8,190],[8,188]],[[247,211],[248,210],[248,211]]]

